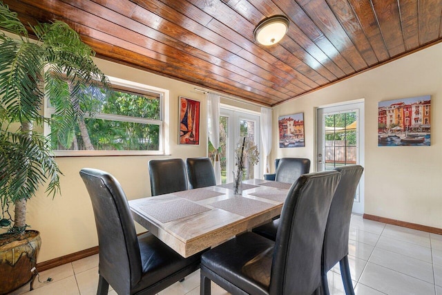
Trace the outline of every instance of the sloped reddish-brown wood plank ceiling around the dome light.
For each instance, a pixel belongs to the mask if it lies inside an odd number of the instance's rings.
[[[442,0],[3,0],[99,57],[274,106],[441,41]],[[253,30],[286,15],[279,44]]]

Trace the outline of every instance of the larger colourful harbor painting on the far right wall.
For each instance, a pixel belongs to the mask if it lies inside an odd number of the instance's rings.
[[[378,103],[378,146],[430,146],[431,97]]]

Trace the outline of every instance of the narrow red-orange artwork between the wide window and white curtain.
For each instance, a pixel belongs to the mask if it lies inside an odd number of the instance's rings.
[[[180,96],[180,144],[200,144],[200,102]]]

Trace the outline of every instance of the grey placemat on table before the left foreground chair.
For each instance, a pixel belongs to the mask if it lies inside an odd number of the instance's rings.
[[[163,223],[210,210],[185,199],[155,204],[155,206],[146,205],[140,207],[140,209]]]

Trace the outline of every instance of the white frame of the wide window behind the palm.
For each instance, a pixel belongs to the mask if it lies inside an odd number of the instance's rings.
[[[136,117],[125,117],[122,115],[112,115],[98,113],[94,115],[94,118],[104,120],[117,120],[126,122],[136,122],[142,124],[156,124],[160,126],[160,141],[158,151],[61,151],[55,150],[55,156],[103,156],[103,155],[167,155],[169,154],[169,90],[158,88],[154,86],[148,86],[137,82],[128,81],[125,79],[119,79],[116,77],[108,77],[113,86],[124,87],[133,93],[151,92],[160,95],[160,120],[144,119]],[[44,115],[50,117],[55,112],[55,108],[52,108],[48,104],[48,99],[44,100]],[[86,116],[87,117],[87,116]],[[45,124],[44,135],[50,134],[50,126]]]

